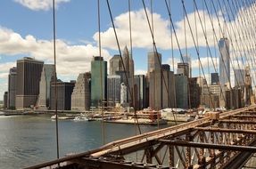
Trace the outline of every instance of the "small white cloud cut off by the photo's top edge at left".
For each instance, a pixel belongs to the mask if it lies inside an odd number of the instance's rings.
[[[14,0],[15,2],[22,4],[30,10],[47,11],[53,7],[53,0]],[[70,2],[70,0],[55,0],[55,5],[58,7],[59,4]]]

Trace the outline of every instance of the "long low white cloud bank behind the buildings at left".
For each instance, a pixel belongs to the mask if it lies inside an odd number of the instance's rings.
[[[37,39],[31,35],[22,37],[11,29],[0,27],[0,54],[27,55],[37,60],[44,60],[45,63],[54,63],[54,44],[53,41]],[[66,77],[65,79],[76,79],[79,73],[90,71],[90,62],[96,55],[98,55],[98,47],[92,44],[69,45],[62,40],[57,40],[58,76]],[[103,49],[102,55],[104,60],[109,60],[109,52]],[[4,81],[9,69],[15,65],[16,62],[0,63],[0,83]],[[0,96],[1,94],[4,93],[0,92]]]

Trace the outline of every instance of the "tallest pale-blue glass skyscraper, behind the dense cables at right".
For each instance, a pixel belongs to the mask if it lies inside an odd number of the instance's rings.
[[[229,41],[227,37],[219,40],[219,84],[228,85],[230,79]]]

